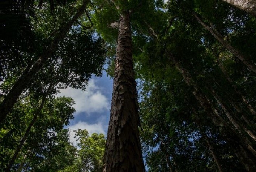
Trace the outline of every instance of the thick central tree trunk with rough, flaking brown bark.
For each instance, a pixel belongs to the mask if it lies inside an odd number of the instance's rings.
[[[139,115],[133,71],[130,14],[119,20],[110,122],[104,172],[145,171],[139,138]]]

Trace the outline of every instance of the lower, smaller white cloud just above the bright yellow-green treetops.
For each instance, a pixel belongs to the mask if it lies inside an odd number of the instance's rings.
[[[103,133],[106,137],[106,133],[105,133],[105,128],[107,126],[104,126],[102,122],[98,122],[95,124],[88,124],[87,122],[82,122],[79,121],[78,123],[74,124],[74,125],[69,125],[69,131],[70,131],[70,142],[73,142],[73,144],[76,146],[78,142],[76,142],[76,138],[74,138],[75,133],[73,132],[73,130],[84,130],[86,129],[89,132],[89,135],[91,135],[92,133]]]

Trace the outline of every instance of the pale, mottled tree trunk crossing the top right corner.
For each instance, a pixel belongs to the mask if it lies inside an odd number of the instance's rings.
[[[255,0],[222,0],[243,11],[250,13],[256,17],[256,1]]]

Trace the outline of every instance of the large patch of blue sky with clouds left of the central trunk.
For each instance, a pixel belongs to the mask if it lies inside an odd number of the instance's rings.
[[[92,77],[86,91],[77,89],[62,89],[58,96],[72,97],[76,104],[74,120],[70,121],[67,128],[71,131],[70,139],[73,140],[73,130],[86,129],[89,134],[103,133],[107,136],[113,80],[103,71],[102,77]]]

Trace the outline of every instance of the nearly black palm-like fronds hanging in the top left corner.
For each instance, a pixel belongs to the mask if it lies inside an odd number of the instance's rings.
[[[34,49],[30,17],[35,18],[31,0],[0,2],[0,80],[9,70],[24,66],[22,55]]]

